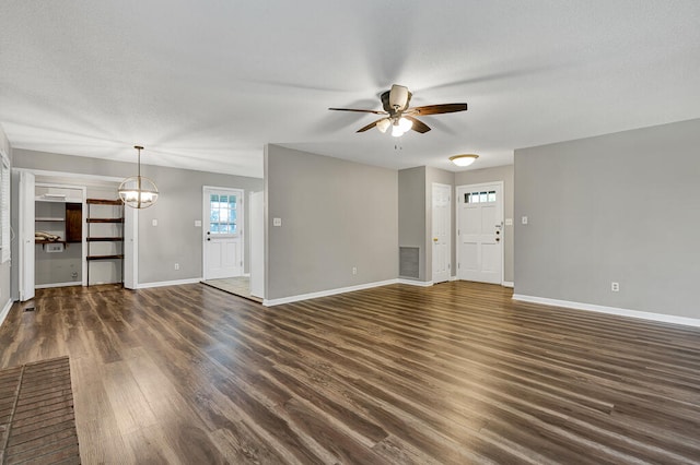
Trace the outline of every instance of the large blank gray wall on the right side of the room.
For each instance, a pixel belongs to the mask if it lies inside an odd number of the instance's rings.
[[[516,151],[515,293],[700,318],[698,147],[700,119]]]

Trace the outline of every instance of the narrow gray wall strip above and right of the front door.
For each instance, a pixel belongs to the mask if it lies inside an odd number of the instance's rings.
[[[495,168],[472,169],[455,174],[455,188],[482,182],[503,181],[503,217],[513,218],[514,181],[513,165],[497,166]],[[514,281],[514,230],[513,226],[503,228],[503,279]]]

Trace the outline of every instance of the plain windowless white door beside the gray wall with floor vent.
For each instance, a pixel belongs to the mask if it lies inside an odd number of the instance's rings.
[[[450,279],[452,262],[451,202],[452,187],[433,183],[433,283]]]

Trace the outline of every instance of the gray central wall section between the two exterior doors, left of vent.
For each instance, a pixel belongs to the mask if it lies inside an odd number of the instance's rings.
[[[396,278],[397,171],[270,144],[265,184],[267,299]]]

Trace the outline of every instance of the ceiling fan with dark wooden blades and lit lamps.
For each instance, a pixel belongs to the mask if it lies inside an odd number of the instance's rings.
[[[382,106],[384,110],[363,110],[354,108],[328,108],[338,111],[359,111],[365,114],[386,115],[374,122],[360,128],[358,132],[364,132],[376,127],[380,131],[386,132],[392,127],[392,135],[398,138],[411,129],[416,132],[425,133],[430,131],[430,127],[417,119],[417,116],[453,114],[456,111],[465,111],[467,104],[443,104],[443,105],[425,105],[422,107],[410,108],[408,104],[411,102],[411,94],[408,87],[394,84],[390,91],[382,94]]]

